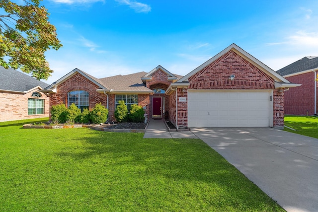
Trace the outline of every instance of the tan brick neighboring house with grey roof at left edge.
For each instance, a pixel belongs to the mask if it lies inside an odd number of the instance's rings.
[[[49,117],[49,84],[25,73],[0,67],[0,122]]]

